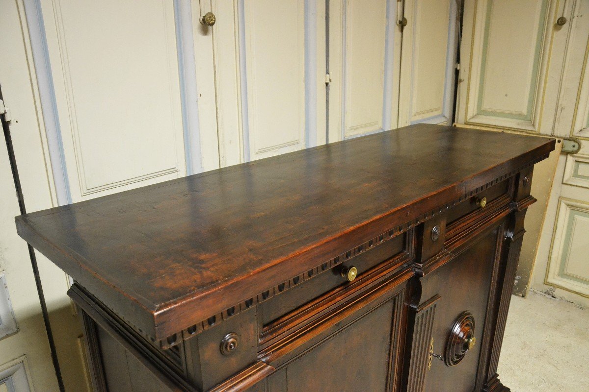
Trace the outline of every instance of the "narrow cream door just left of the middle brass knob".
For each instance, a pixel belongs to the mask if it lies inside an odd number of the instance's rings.
[[[396,128],[397,12],[393,0],[329,2],[329,142]]]

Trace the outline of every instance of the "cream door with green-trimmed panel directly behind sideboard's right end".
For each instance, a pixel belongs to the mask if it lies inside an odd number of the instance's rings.
[[[571,19],[580,19],[574,9],[582,4],[587,1],[466,0],[456,122],[531,136],[568,135],[571,125],[565,125],[563,116],[574,106],[571,97],[577,91],[565,86],[563,75],[575,68],[580,73],[583,63],[565,61],[578,51]],[[557,24],[561,16],[568,21],[564,26]],[[531,283],[532,269],[534,276],[544,274],[542,264],[548,258],[544,232],[553,226],[555,216],[548,196],[553,179],[554,188],[560,189],[565,160],[561,146],[557,143],[550,159],[534,169],[532,194],[538,202],[528,209],[514,286],[514,293],[522,296],[530,287],[538,287]]]

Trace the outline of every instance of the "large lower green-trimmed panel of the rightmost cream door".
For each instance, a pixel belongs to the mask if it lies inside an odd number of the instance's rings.
[[[546,283],[589,296],[589,202],[560,198]]]

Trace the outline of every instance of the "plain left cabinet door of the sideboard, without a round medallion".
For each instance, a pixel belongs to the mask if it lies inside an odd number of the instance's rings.
[[[396,390],[403,292],[323,339],[270,376],[267,392]],[[353,317],[353,316],[352,316]]]

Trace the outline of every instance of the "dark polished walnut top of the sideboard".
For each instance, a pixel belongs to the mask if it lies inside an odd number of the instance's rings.
[[[163,339],[553,149],[553,139],[413,125],[29,213],[16,225],[105,306]]]

